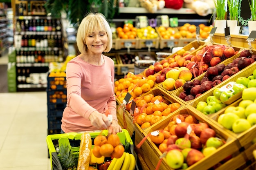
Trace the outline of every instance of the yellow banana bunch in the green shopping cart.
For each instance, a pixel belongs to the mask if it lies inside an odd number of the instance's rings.
[[[108,170],[134,170],[136,160],[134,155],[124,152],[120,158],[113,158]]]

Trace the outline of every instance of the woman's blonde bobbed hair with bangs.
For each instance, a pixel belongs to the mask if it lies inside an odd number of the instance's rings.
[[[81,53],[87,52],[87,46],[85,44],[86,35],[90,32],[106,31],[108,36],[108,44],[104,52],[109,52],[112,48],[112,31],[110,25],[101,13],[88,13],[81,21],[76,35],[76,44]]]

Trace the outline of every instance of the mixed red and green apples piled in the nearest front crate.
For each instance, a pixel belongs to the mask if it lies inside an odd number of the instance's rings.
[[[166,162],[173,169],[186,169],[225,144],[208,124],[187,114],[173,116],[164,130],[151,132],[149,137],[166,153]]]

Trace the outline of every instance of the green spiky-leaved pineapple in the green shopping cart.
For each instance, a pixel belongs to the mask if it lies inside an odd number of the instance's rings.
[[[60,145],[58,159],[61,162],[63,170],[76,170],[76,163],[71,147],[65,144]]]

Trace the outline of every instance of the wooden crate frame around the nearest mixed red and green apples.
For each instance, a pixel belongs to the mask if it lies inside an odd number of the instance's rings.
[[[237,155],[239,155],[239,148],[236,144],[236,139],[232,135],[229,135],[229,133],[227,133],[226,131],[221,130],[219,126],[216,126],[216,124],[213,124],[212,123],[213,121],[211,119],[202,116],[201,113],[198,113],[197,110],[195,110],[195,108],[192,108],[189,105],[176,110],[175,112],[173,112],[171,114],[171,116],[168,117],[168,119],[164,119],[162,122],[154,124],[153,126],[151,126],[150,130],[148,130],[147,132],[146,131],[143,132],[144,135],[146,136],[150,132],[163,129],[165,126],[168,125],[170,119],[173,118],[173,116],[178,115],[178,114],[186,114],[186,115],[188,114],[188,115],[195,116],[195,118],[199,122],[204,122],[204,123],[208,124],[209,127],[211,127],[213,130],[215,130],[217,137],[226,141],[226,144],[224,144],[223,146],[218,148],[216,150],[216,152],[213,153],[213,155],[211,155],[209,157],[204,157],[202,160],[193,164],[189,168],[186,168],[186,170],[206,170],[206,169],[209,169],[209,168],[215,166],[220,161],[229,157],[230,155],[232,155],[233,158],[236,157]],[[153,150],[153,152],[152,152],[152,150]],[[146,162],[150,162],[153,164],[152,169],[154,169],[157,166],[159,157],[162,155],[162,152],[160,152],[160,150],[150,140],[149,137],[147,137],[146,141],[142,144],[141,148],[138,149],[138,152],[141,155],[148,155],[148,160],[146,160]],[[224,163],[222,166],[224,166],[226,163]],[[228,169],[235,170],[240,167],[241,163],[243,163],[243,164],[246,163],[245,159],[240,159],[239,163],[235,163],[234,161],[232,161],[234,168],[228,168]],[[221,168],[222,166],[220,166],[219,169],[227,170],[225,168]],[[159,170],[171,170],[171,168],[168,167],[165,158],[163,159]]]

